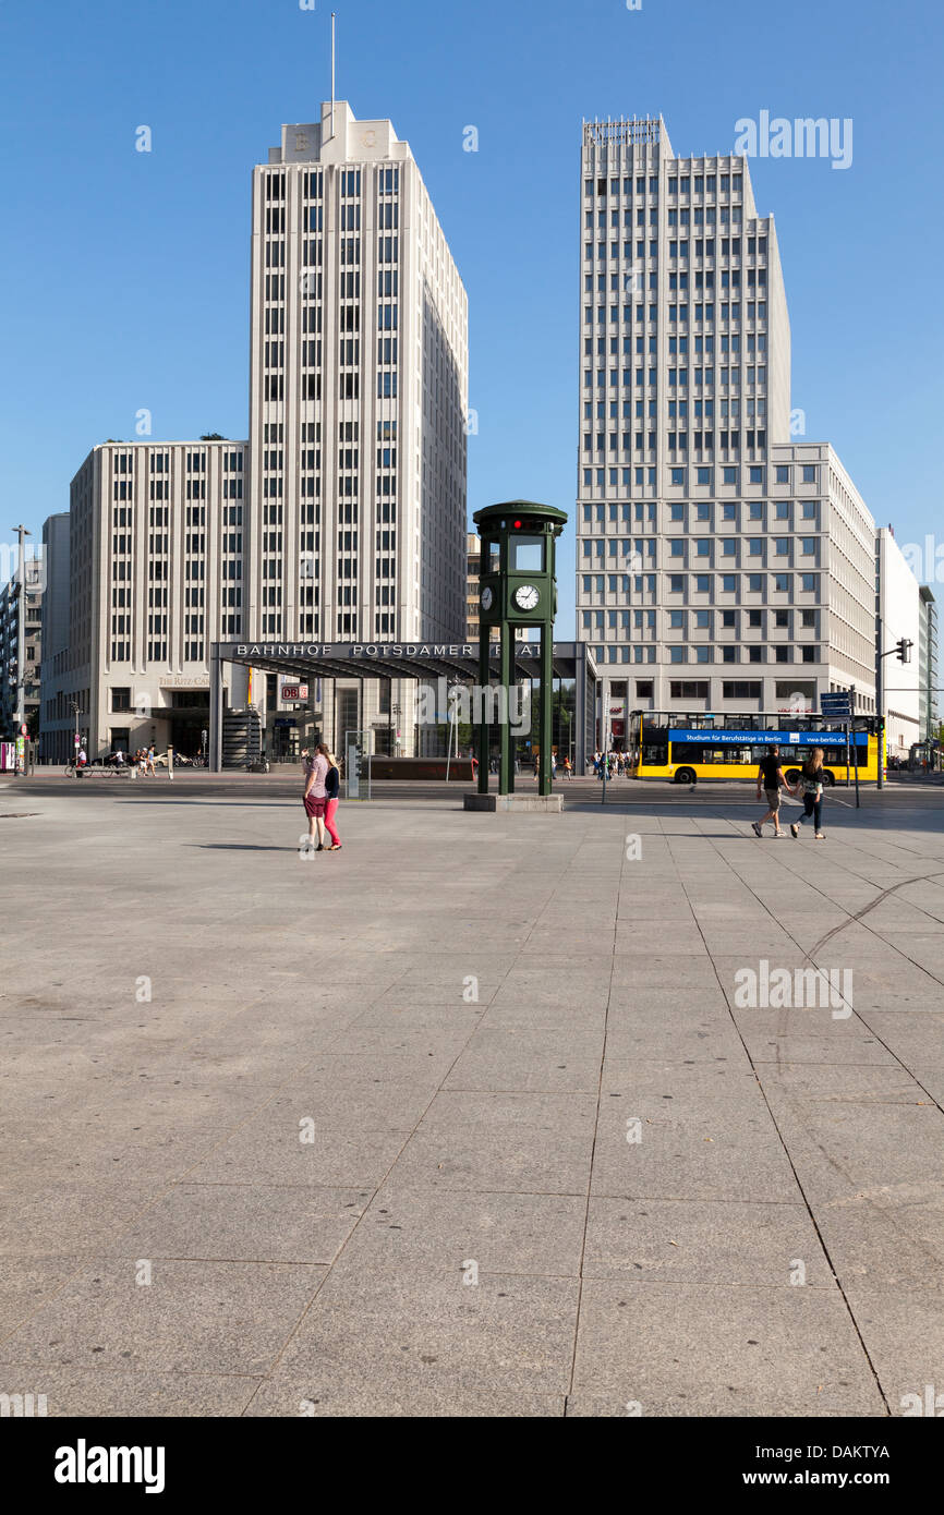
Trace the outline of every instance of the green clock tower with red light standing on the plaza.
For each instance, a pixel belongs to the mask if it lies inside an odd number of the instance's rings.
[[[564,511],[533,500],[489,504],[473,517],[482,539],[479,567],[479,683],[491,686],[491,633],[499,629],[499,794],[514,794],[515,764],[509,708],[515,685],[515,639],[521,627],[539,629],[541,721],[538,795],[552,792],[553,633],[558,611],[556,539],[567,524]],[[479,723],[479,794],[488,794],[492,701],[482,698]]]

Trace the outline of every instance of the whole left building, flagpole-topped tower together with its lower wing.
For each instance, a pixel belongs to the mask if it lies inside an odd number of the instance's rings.
[[[282,129],[253,171],[247,441],[108,442],[73,479],[56,761],[73,703],[92,754],[198,751],[212,642],[464,639],[467,297],[389,121],[336,102]],[[236,758],[423,744],[409,682],[230,665],[224,695]]]

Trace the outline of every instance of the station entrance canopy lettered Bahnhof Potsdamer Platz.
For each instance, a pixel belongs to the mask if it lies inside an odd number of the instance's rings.
[[[499,644],[491,650],[499,673]],[[221,762],[220,732],[223,721],[223,667],[241,664],[262,673],[280,673],[305,679],[421,679],[476,683],[479,677],[477,642],[314,642],[314,641],[244,641],[214,642],[211,647],[211,765]],[[536,677],[538,642],[515,644],[518,679]],[[574,756],[583,765],[592,751],[595,730],[597,667],[585,642],[555,642],[555,679],[576,683]]]

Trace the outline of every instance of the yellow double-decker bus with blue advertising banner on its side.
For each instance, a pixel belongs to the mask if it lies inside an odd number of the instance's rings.
[[[633,711],[629,723],[629,771],[633,779],[671,779],[688,785],[699,779],[747,780],[756,776],[770,742],[779,742],[783,773],[791,783],[814,747],[823,748],[826,785],[852,779],[856,756],[859,779],[877,780],[879,741],[883,742],[879,720],[874,715],[859,715],[855,727],[847,748],[846,730],[823,715]]]

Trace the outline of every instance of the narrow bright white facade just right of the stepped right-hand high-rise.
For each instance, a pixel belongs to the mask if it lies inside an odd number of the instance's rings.
[[[918,638],[921,621],[920,585],[896,542],[891,526],[876,535],[876,668],[880,711],[889,758],[903,762],[914,742],[923,739]],[[911,661],[885,656],[905,638],[912,644]]]

